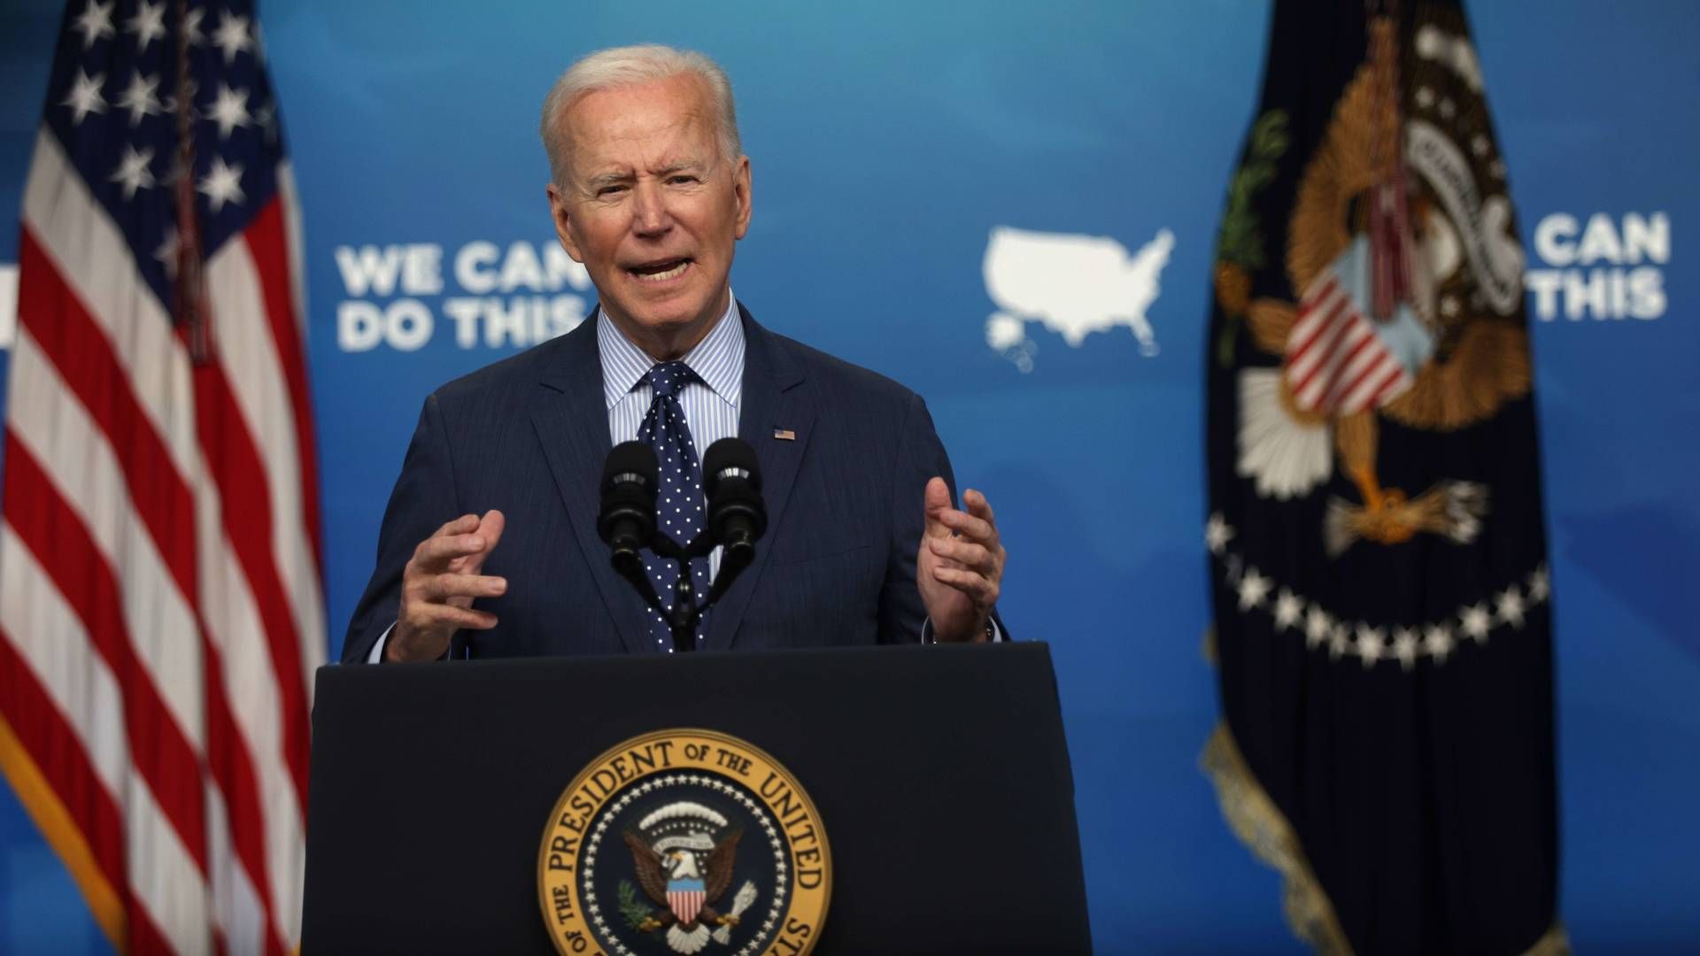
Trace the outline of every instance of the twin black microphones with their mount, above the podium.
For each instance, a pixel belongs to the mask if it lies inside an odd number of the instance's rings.
[[[755,449],[741,439],[721,439],[702,456],[709,519],[688,544],[673,541],[654,521],[658,463],[643,442],[620,442],[602,468],[602,512],[597,532],[609,544],[614,570],[626,578],[644,604],[668,624],[675,652],[697,650],[697,624],[738,575],[755,560],[755,543],[767,531],[762,475]],[[699,604],[690,560],[722,548],[719,573]],[[678,563],[673,606],[661,604],[644,568],[643,548],[658,560]]]

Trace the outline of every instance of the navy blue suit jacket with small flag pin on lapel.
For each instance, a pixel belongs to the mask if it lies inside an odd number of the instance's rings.
[[[926,480],[955,481],[926,405],[867,369],[745,325],[738,435],[762,463],[768,529],[706,624],[707,650],[915,643]],[[796,439],[774,437],[775,429]],[[471,655],[651,653],[643,606],[597,538],[610,449],[593,322],[456,379],[425,400],[348,623],[345,662],[396,621],[401,572],[444,522],[500,509],[486,575],[508,580],[462,631]]]

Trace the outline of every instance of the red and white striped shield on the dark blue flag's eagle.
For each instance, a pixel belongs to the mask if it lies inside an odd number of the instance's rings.
[[[1285,366],[1299,408],[1323,415],[1379,408],[1414,381],[1333,270],[1299,299]]]

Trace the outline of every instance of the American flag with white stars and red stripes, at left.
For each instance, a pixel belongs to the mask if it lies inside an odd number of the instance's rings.
[[[0,769],[119,951],[299,941],[299,242],[252,2],[71,0],[19,243]]]

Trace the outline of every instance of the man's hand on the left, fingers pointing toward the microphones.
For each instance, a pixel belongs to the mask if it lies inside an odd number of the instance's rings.
[[[473,599],[500,597],[508,590],[507,578],[478,573],[502,541],[505,526],[498,510],[484,517],[468,514],[420,541],[401,572],[401,609],[384,643],[386,662],[435,660],[461,628],[488,631],[496,626],[495,614],[473,611]]]

